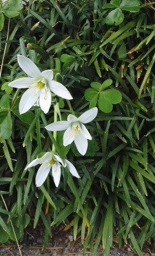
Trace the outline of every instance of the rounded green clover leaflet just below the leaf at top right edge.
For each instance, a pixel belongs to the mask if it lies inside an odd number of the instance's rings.
[[[116,8],[109,12],[107,18],[105,19],[105,23],[107,25],[119,25],[124,19],[124,14],[121,12],[121,9]]]

